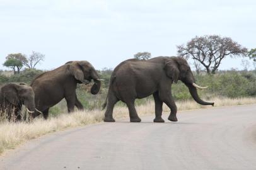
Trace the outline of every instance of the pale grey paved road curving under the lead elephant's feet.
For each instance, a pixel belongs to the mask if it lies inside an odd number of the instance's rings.
[[[0,157],[0,169],[256,169],[256,105],[153,118],[47,135]]]

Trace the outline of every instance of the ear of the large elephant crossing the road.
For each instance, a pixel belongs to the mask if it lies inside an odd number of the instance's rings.
[[[180,71],[178,70],[178,63],[174,59],[168,59],[165,62],[165,72],[166,75],[172,79],[175,83],[178,82],[178,77],[180,76]]]

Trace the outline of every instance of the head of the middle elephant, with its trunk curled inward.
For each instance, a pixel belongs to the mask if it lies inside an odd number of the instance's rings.
[[[99,78],[95,68],[90,62],[87,61],[70,61],[66,64],[69,64],[69,71],[78,81],[78,83],[84,83],[86,81],[91,81],[93,79],[94,84],[91,87],[91,94],[97,94],[100,91],[102,79]]]

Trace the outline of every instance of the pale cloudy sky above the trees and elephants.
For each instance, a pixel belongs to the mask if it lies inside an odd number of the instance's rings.
[[[0,69],[5,57],[45,54],[38,68],[88,60],[113,68],[137,52],[177,55],[196,35],[231,37],[256,47],[256,1],[214,0],[0,0]],[[228,59],[221,69],[242,69]]]

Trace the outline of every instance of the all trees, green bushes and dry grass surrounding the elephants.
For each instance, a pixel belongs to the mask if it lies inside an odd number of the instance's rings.
[[[199,95],[206,101],[215,102],[215,106],[248,105],[256,103],[256,70],[248,71],[248,62],[244,62],[244,70],[219,71],[219,65],[226,57],[247,57],[252,59],[256,67],[256,48],[247,50],[240,44],[227,37],[216,35],[192,38],[185,45],[177,46],[178,55],[190,59],[190,66],[195,68],[194,75],[197,84],[208,86],[207,89],[199,90]],[[134,55],[135,59],[148,60],[149,52],[139,52]],[[28,57],[25,54],[9,54],[4,66],[12,71],[0,71],[0,86],[8,82],[25,82],[30,84],[42,70],[36,69],[36,65],[44,61],[45,55],[32,52]],[[192,62],[191,62],[192,60]],[[34,139],[46,133],[64,130],[68,127],[78,127],[89,123],[102,122],[104,111],[102,105],[108,92],[112,69],[98,71],[102,82],[100,93],[90,93],[91,84],[79,84],[76,89],[79,101],[84,106],[84,111],[76,111],[67,114],[66,101],[50,108],[50,118],[43,120],[36,118],[33,122],[8,122],[0,119],[0,154],[6,149],[13,149],[16,145],[26,140]],[[170,87],[171,88],[171,87]],[[173,97],[177,101],[178,111],[206,108],[195,103],[190,96],[187,87],[180,81],[172,85]],[[139,115],[154,113],[153,97],[136,100],[136,109]],[[163,111],[170,111],[164,105]],[[124,103],[119,102],[114,108],[115,118],[129,116]]]

